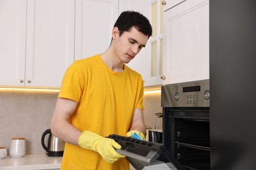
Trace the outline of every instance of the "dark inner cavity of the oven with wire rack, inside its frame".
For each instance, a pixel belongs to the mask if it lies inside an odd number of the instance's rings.
[[[209,119],[174,118],[175,157],[185,166],[210,169]]]

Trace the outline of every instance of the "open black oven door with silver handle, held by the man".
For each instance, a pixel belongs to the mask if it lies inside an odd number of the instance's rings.
[[[140,170],[144,167],[164,163],[171,170],[185,170],[183,165],[161,143],[152,143],[115,134],[109,135],[108,138],[114,139],[121,145],[121,149],[116,149],[116,151],[125,155],[135,169]]]

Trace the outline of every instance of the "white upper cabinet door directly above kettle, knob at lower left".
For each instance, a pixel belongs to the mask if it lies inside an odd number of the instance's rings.
[[[60,87],[74,61],[75,0],[28,0],[26,86]]]

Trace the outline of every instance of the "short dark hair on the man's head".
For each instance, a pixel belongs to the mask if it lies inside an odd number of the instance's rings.
[[[140,12],[135,12],[133,10],[121,12],[114,27],[118,27],[119,36],[121,36],[124,31],[130,31],[132,27],[135,27],[144,35],[148,35],[148,37],[152,35],[152,26],[150,25],[148,18],[140,14]]]

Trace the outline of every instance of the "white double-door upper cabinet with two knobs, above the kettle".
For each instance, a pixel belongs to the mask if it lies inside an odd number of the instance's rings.
[[[75,0],[1,0],[0,6],[0,85],[60,87],[74,61]]]

